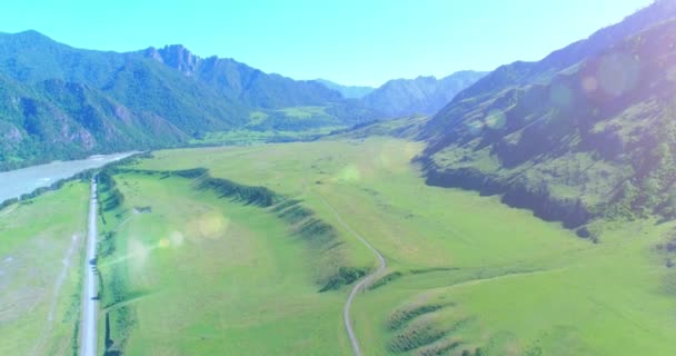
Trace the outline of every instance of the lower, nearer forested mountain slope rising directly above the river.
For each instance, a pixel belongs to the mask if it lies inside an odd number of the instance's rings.
[[[168,120],[130,109],[84,85],[36,86],[0,76],[0,168],[97,152],[177,145],[188,136]],[[100,142],[105,142],[102,146]]]

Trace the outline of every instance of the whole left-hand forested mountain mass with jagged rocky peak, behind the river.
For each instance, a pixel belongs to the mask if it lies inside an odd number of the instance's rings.
[[[182,46],[118,53],[0,33],[0,170],[186,145],[206,132],[336,128],[376,118],[315,81]],[[302,119],[302,120],[300,120]]]

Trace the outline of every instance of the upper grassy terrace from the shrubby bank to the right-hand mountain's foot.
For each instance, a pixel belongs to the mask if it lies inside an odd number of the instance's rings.
[[[421,149],[404,140],[367,139],[168,150],[136,167],[208,167],[215,177],[301,199],[339,229],[327,206],[336,209],[388,260],[387,275],[358,295],[352,312],[365,354],[676,350],[668,337],[676,306],[667,267],[674,224],[600,221],[595,225],[600,244],[593,244],[496,197],[426,186],[409,165]],[[348,231],[339,236],[357,266],[375,263]],[[320,294],[318,300],[341,304],[346,291]],[[329,313],[340,312],[327,309],[326,317]],[[321,335],[349,355],[336,323]],[[319,354],[336,346],[314,345],[308,350]]]

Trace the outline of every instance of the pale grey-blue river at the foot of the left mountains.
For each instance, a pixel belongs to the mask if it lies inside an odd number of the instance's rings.
[[[59,179],[70,178],[83,170],[99,168],[129,157],[135,152],[97,155],[87,159],[54,161],[17,170],[0,172],[0,202],[18,198],[40,187],[49,187]]]

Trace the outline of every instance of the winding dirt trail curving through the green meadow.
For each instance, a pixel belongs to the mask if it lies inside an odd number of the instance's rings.
[[[355,356],[361,356],[362,354],[361,349],[359,348],[359,342],[357,340],[357,336],[355,336],[355,329],[350,319],[350,309],[352,307],[352,301],[355,300],[355,297],[357,296],[359,290],[361,290],[365,286],[369,285],[374,280],[374,278],[376,278],[376,276],[385,271],[385,268],[387,268],[387,261],[385,260],[385,257],[382,257],[382,255],[380,255],[380,253],[378,253],[378,250],[366,238],[364,238],[364,236],[355,231],[349,225],[347,225],[347,222],[345,222],[338,210],[336,210],[328,201],[326,201],[324,197],[320,198],[321,201],[327,206],[327,208],[329,208],[329,210],[334,212],[338,222],[348,231],[350,231],[350,234],[357,237],[361,241],[361,244],[368,247],[368,249],[370,249],[378,258],[378,269],[376,269],[370,275],[361,278],[355,285],[355,287],[352,287],[352,290],[350,290],[350,295],[348,296],[347,301],[345,303],[345,307],[342,308],[342,320],[345,322],[345,329],[347,332],[347,336],[350,338],[350,344],[352,345],[352,352],[355,353]]]

